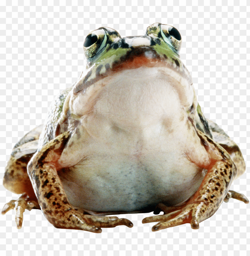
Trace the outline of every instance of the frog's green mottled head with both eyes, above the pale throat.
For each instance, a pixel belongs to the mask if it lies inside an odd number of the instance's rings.
[[[161,23],[149,26],[145,35],[124,38],[116,30],[100,27],[90,32],[83,44],[87,69],[74,86],[74,93],[84,92],[93,83],[112,74],[140,67],[165,66],[192,84],[179,58],[181,44],[179,31]]]

